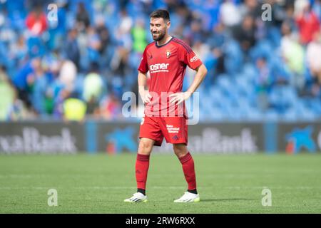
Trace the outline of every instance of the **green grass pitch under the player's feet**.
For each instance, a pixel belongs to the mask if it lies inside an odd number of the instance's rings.
[[[0,155],[0,213],[320,213],[320,155],[193,155],[201,202],[173,203],[186,183],[174,155],[152,155],[148,202],[136,192],[136,155]],[[272,206],[263,207],[263,187]],[[49,207],[49,189],[58,207]]]

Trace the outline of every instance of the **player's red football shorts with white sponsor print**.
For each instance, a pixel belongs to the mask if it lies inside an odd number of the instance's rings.
[[[141,120],[139,138],[155,140],[156,146],[161,146],[163,138],[167,143],[188,144],[188,125],[185,117],[148,117]]]

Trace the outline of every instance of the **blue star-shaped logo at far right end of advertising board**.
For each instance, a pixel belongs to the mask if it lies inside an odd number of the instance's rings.
[[[294,128],[285,135],[287,145],[285,151],[288,154],[297,154],[302,151],[315,153],[321,149],[321,130],[314,137],[315,128],[307,125],[305,128]]]

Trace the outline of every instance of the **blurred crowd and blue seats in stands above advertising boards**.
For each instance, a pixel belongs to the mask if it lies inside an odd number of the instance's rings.
[[[0,120],[123,119],[160,8],[208,68],[202,120],[321,117],[320,0],[3,0]]]

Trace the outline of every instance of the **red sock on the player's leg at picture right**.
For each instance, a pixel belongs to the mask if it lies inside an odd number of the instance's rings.
[[[195,169],[194,169],[194,160],[190,152],[188,152],[185,156],[179,158],[180,163],[183,166],[183,172],[185,175],[186,182],[188,182],[188,190],[196,189],[196,177],[195,177]]]

